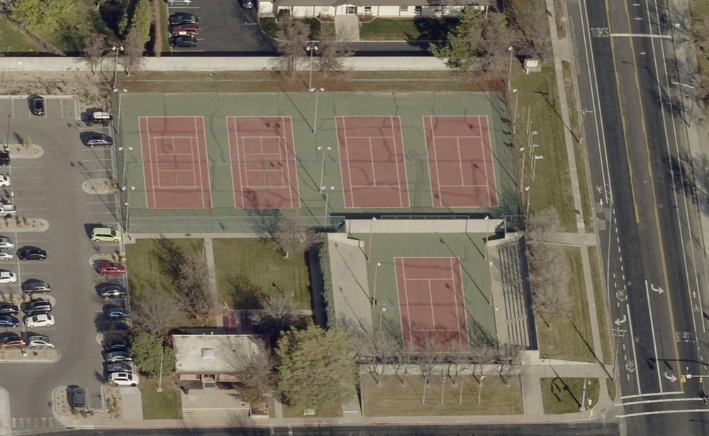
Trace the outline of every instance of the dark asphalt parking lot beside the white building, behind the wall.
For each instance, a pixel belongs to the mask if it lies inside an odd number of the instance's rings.
[[[238,0],[193,0],[190,6],[168,7],[169,14],[199,17],[196,47],[172,47],[174,55],[272,55],[271,38],[258,25],[257,9],[245,9]]]

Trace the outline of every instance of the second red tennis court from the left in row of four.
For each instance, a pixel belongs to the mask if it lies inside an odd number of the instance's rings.
[[[290,117],[228,116],[235,208],[299,208]]]

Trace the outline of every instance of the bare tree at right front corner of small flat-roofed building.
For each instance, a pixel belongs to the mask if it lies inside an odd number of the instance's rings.
[[[264,396],[275,389],[275,366],[276,359],[267,348],[240,357],[240,361],[235,362],[238,391],[245,401],[262,403]]]

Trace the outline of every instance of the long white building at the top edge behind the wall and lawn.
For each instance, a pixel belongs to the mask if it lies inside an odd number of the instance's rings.
[[[274,0],[260,1],[259,14],[276,16],[281,9],[291,16],[331,18],[338,15],[413,18],[418,16],[457,16],[465,7],[485,10],[496,0]]]

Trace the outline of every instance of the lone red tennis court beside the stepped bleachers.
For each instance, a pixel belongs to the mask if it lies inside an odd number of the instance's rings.
[[[467,352],[460,260],[457,257],[395,257],[394,265],[406,348]]]

